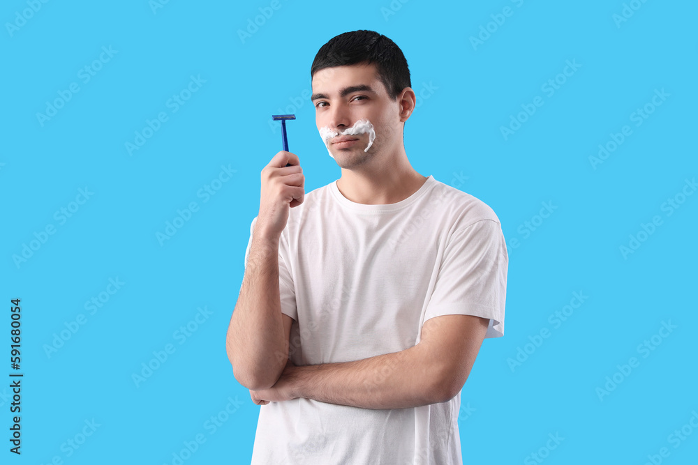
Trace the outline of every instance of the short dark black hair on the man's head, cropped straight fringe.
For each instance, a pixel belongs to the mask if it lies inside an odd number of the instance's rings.
[[[393,100],[406,87],[412,87],[410,68],[402,50],[392,40],[376,31],[352,31],[334,36],[320,47],[310,68],[315,73],[334,66],[376,63],[378,77]]]

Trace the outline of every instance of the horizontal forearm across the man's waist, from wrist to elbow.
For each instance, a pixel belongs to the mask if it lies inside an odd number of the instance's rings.
[[[295,367],[293,397],[363,409],[407,409],[443,402],[437,364],[419,345],[345,363]]]

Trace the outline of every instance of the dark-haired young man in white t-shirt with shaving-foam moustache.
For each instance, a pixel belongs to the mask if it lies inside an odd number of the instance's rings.
[[[460,391],[504,331],[500,222],[410,165],[415,93],[392,40],[336,36],[311,78],[341,178],[305,195],[285,151],[262,170],[227,339],[262,405],[252,463],[461,464]]]

